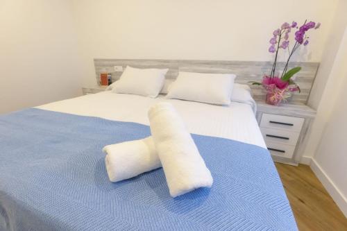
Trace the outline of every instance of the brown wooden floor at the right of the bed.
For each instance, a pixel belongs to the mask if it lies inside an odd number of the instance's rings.
[[[276,163],[276,167],[299,230],[347,230],[346,217],[310,166]]]

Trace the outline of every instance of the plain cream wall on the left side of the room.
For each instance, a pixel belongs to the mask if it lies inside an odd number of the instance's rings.
[[[0,113],[81,94],[69,0],[0,1]]]

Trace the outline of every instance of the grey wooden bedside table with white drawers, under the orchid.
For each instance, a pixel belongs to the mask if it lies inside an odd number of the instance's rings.
[[[304,104],[273,106],[257,101],[257,122],[273,160],[297,166],[316,111]]]

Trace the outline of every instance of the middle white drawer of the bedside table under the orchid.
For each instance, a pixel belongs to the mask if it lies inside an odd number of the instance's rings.
[[[273,128],[261,127],[262,135],[265,142],[276,142],[280,144],[296,145],[300,133],[290,132],[288,130],[278,130]]]

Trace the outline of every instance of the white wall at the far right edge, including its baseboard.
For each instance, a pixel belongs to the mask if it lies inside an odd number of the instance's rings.
[[[347,26],[322,96],[323,132],[315,144],[312,169],[347,216]],[[328,113],[327,113],[328,112]],[[327,115],[328,114],[328,115]]]

